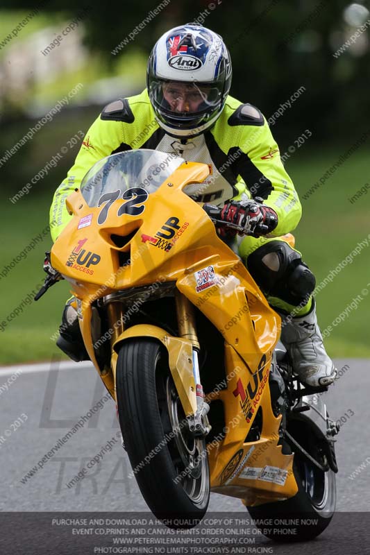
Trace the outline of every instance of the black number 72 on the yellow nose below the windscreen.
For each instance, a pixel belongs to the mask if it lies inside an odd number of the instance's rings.
[[[104,193],[98,200],[98,206],[104,205],[98,216],[98,223],[100,225],[106,221],[110,207],[120,196],[127,202],[119,207],[117,216],[122,216],[123,214],[140,216],[145,210],[144,203],[149,194],[148,191],[142,189],[142,187],[131,187],[131,189],[126,189],[122,195],[121,189],[117,189],[117,191],[112,191],[111,193]]]

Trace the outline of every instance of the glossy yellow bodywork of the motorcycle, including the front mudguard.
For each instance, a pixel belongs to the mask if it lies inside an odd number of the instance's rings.
[[[75,191],[67,199],[74,218],[54,244],[51,262],[72,284],[87,352],[112,397],[121,342],[153,336],[169,352],[171,373],[189,414],[196,407],[190,341],[169,336],[155,326],[120,330],[112,342],[110,365],[103,370],[96,361],[92,339],[92,303],[96,299],[155,282],[176,282],[178,291],[224,337],[227,388],[213,399],[224,404],[226,426],[224,438],[210,442],[208,451],[212,490],[246,499],[248,505],[286,499],[297,491],[293,455],[283,455],[277,445],[280,418],[271,409],[268,380],[280,318],[239,257],[219,239],[207,214],[182,191],[185,185],[203,182],[208,173],[206,164],[185,162],[149,195],[140,216],[118,217],[125,203],[118,199],[103,225],[97,223],[101,207],[89,207],[81,191]],[[81,221],[91,223],[80,228]],[[175,221],[176,241],[164,244],[162,236]],[[262,413],[261,436],[258,441],[246,442],[258,411]]]

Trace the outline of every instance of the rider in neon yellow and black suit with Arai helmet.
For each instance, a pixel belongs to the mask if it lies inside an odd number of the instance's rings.
[[[69,222],[65,199],[103,157],[153,148],[209,164],[208,179],[187,194],[222,207],[225,223],[249,231],[239,255],[283,317],[281,341],[295,373],[309,386],[328,385],[336,370],[317,324],[314,275],[283,237],[301,219],[301,203],[260,110],[228,95],[231,76],[230,55],[217,33],[187,24],[162,35],[149,57],[144,92],[108,104],[87,131],[53,198],[52,238]],[[227,226],[219,233],[226,241],[235,235]],[[74,360],[88,358],[74,298],[65,306],[57,344]]]

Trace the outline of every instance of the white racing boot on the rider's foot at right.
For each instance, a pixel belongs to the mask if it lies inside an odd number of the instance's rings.
[[[292,359],[294,373],[308,386],[328,386],[337,375],[317,324],[315,302],[308,314],[283,319],[281,341]]]

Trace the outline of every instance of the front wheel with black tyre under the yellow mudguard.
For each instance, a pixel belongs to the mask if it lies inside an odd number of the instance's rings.
[[[146,503],[169,527],[195,526],[210,499],[208,454],[187,427],[165,348],[153,339],[125,341],[116,385],[124,445]]]

